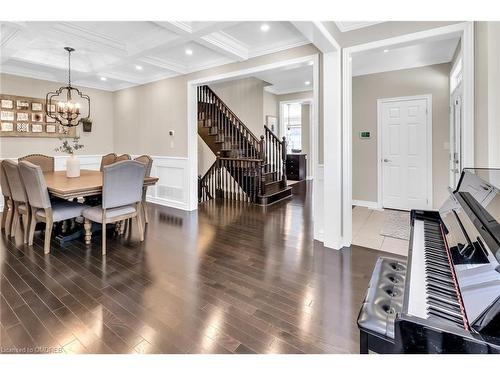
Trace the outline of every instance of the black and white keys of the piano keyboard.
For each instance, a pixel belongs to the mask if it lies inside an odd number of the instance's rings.
[[[450,262],[440,225],[415,220],[408,313],[467,329]]]

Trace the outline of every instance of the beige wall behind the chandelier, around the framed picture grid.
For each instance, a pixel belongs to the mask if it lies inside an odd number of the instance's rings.
[[[30,96],[44,99],[49,91],[66,85],[62,82],[43,81],[39,79],[0,74],[0,92],[2,94]],[[77,132],[81,135],[81,143],[85,148],[79,154],[93,155],[112,152],[113,142],[113,93],[108,91],[80,88],[90,96],[92,132],[84,133],[81,127]],[[31,153],[56,155],[54,148],[59,145],[57,138],[0,138],[0,157],[16,158]]]

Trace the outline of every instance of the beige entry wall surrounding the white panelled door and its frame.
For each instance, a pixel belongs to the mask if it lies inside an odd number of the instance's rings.
[[[448,196],[450,64],[354,77],[352,81],[353,199],[377,201],[377,99],[432,94],[433,206]],[[361,140],[359,132],[372,132]]]

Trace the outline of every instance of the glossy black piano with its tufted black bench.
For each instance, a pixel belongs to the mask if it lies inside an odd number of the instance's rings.
[[[372,274],[361,353],[500,353],[500,170],[465,169],[439,212],[410,217],[407,262]]]

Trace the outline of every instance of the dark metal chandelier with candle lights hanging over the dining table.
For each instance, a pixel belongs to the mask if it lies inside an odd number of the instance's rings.
[[[74,48],[64,47],[68,51],[68,86],[60,87],[54,92],[49,92],[45,97],[45,111],[47,116],[56,120],[63,126],[78,126],[83,120],[90,117],[90,98],[76,87],[71,86],[71,52]],[[87,116],[80,113],[81,104],[73,99],[87,101]]]

